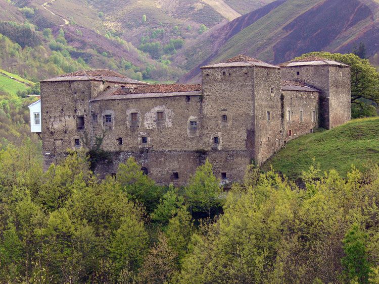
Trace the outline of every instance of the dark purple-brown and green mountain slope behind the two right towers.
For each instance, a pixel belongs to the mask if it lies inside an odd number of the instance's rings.
[[[214,27],[178,52],[174,63],[193,70],[182,82],[200,80],[200,66],[247,54],[279,64],[310,51],[349,53],[360,43],[377,61],[379,5],[370,0],[277,0]]]

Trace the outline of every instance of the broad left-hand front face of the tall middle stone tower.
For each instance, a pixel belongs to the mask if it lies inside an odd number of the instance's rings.
[[[255,157],[254,76],[254,67],[202,71],[201,138],[219,178],[224,173],[226,180],[241,180]]]

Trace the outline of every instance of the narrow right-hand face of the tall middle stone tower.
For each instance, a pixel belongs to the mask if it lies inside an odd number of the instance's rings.
[[[254,94],[255,161],[262,164],[283,144],[280,69],[256,67]]]

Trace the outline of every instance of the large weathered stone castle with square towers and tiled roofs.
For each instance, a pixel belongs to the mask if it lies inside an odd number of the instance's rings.
[[[67,149],[101,148],[115,174],[133,156],[159,184],[185,184],[206,159],[241,181],[289,140],[350,120],[350,67],[321,58],[273,66],[239,55],[202,67],[201,85],[150,85],[110,70],[41,81],[45,167]]]

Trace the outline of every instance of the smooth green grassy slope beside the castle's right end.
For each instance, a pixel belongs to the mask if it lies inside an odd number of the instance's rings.
[[[351,165],[364,167],[368,161],[379,162],[379,118],[353,120],[332,130],[316,132],[290,141],[268,160],[270,165],[291,178],[298,178],[312,164],[320,163],[322,171],[336,169],[342,176]]]

